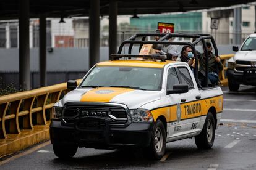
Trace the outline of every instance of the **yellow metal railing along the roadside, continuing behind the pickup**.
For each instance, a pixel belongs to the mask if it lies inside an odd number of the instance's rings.
[[[224,66],[220,72],[221,83],[228,83],[226,60],[233,56],[220,55]],[[7,134],[20,134],[21,129],[48,124],[51,108],[67,91],[66,83],[61,83],[0,97],[0,138],[6,138]]]

